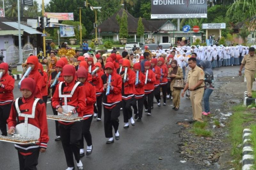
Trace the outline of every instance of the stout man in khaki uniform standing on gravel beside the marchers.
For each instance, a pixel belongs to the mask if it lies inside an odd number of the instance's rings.
[[[188,72],[188,80],[181,94],[184,97],[186,90],[190,91],[190,100],[193,109],[193,121],[203,122],[201,101],[204,95],[204,71],[196,65],[196,58],[188,59],[188,65],[192,69]]]

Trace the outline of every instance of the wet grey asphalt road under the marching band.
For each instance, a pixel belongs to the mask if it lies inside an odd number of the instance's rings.
[[[230,69],[228,69],[230,68]],[[215,69],[214,74],[225,75],[225,71],[238,70],[238,67],[222,67]],[[223,72],[222,72],[223,71]],[[230,73],[229,72],[229,73]],[[15,82],[14,96],[21,93]],[[163,103],[161,103],[163,104]],[[181,128],[176,123],[185,119],[192,119],[190,100],[181,98],[180,110],[172,109],[172,101],[167,100],[167,106],[157,107],[154,104],[151,116],[143,114],[142,122],[135,122],[135,126],[124,129],[123,115],[119,117],[120,140],[113,144],[106,144],[103,121],[93,119],[91,125],[93,151],[92,155],[84,156],[81,160],[87,170],[126,170],[126,169],[170,169],[170,170],[198,170],[201,166],[191,162],[180,163],[177,144],[180,138],[176,134]],[[47,104],[47,114],[52,115],[52,108]],[[103,117],[102,117],[103,120]],[[40,153],[38,170],[65,170],[67,168],[61,142],[55,142],[55,123],[48,120],[50,141],[45,153]],[[86,147],[86,144],[85,144]],[[14,144],[0,142],[0,170],[19,169],[18,154]],[[162,160],[160,160],[161,158]]]

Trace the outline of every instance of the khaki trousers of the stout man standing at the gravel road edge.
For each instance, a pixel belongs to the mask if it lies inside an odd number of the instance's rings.
[[[202,106],[201,101],[204,95],[204,88],[190,91],[190,100],[193,109],[193,120],[204,122],[202,119]]]

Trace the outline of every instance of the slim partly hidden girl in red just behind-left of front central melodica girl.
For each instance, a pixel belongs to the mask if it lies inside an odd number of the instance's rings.
[[[100,92],[100,78],[104,74],[101,70],[101,64],[99,62],[95,63],[95,68],[99,67],[99,70],[97,73],[95,73],[94,77],[98,78],[92,78],[92,83],[94,84],[95,90],[96,90],[96,105],[94,105],[94,115],[93,118],[97,118],[97,121],[101,121],[101,113],[102,113],[102,92]],[[97,106],[97,108],[96,108]]]

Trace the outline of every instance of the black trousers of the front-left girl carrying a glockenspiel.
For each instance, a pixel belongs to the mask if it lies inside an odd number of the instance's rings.
[[[19,157],[19,164],[20,170],[37,170],[36,166],[38,164],[38,157],[39,157],[39,147],[29,149],[32,152],[31,155],[21,155],[18,150],[18,157]]]

